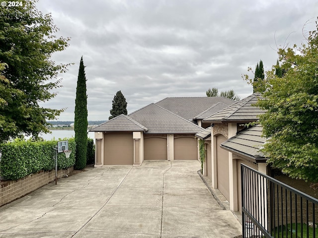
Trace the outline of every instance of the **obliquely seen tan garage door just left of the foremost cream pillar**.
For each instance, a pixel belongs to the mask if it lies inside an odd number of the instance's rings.
[[[219,190],[228,199],[228,201],[230,201],[229,152],[220,147],[220,144],[226,140],[227,138],[224,135],[218,135],[216,137],[217,179]]]

